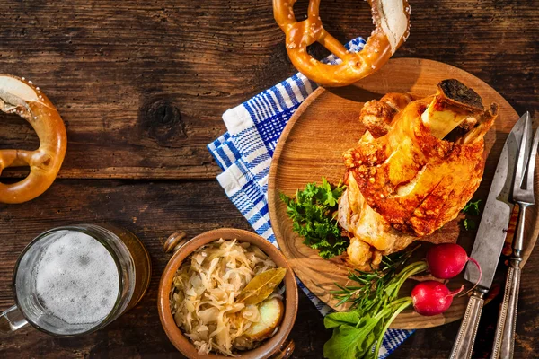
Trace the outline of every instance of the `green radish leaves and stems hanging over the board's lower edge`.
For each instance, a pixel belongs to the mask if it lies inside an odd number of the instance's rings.
[[[388,270],[383,285],[379,285],[379,278],[376,276],[369,282],[365,275],[360,274],[357,277],[360,279],[359,283],[371,288],[376,287],[376,290],[359,294],[358,298],[364,300],[354,301],[356,307],[351,311],[334,312],[325,316],[325,328],[332,328],[333,335],[323,346],[324,357],[376,359],[385,331],[397,315],[411,305],[411,297],[397,298],[402,284],[408,277],[426,269],[427,263],[419,261],[404,267],[398,274]]]

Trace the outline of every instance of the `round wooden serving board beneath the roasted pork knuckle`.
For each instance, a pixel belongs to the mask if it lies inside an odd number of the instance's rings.
[[[354,86],[336,89],[318,88],[287,123],[271,162],[269,185],[271,224],[280,249],[296,275],[311,292],[331,307],[335,308],[336,301],[332,299],[330,292],[337,289],[335,283],[340,285],[349,283],[347,278],[349,267],[342,258],[331,260],[320,258],[316,250],[302,243],[303,239],[292,231],[292,221],[287,216],[286,206],[279,199],[279,193],[292,196],[296,193],[296,189],[305,188],[308,182],[320,183],[323,176],[331,183],[339,182],[345,171],[341,154],[354,147],[365,131],[358,121],[359,111],[365,101],[379,99],[387,92],[411,92],[424,97],[436,92],[439,81],[450,78],[458,79],[473,88],[481,95],[485,106],[490,102],[499,104],[499,116],[485,136],[486,165],[482,184],[473,196],[474,199],[482,199],[483,206],[499,153],[518,116],[508,101],[488,84],[454,66],[418,58],[392,59],[376,74]],[[535,171],[535,188],[539,188],[537,172]],[[539,198],[536,202],[539,202]],[[535,207],[533,209],[534,212],[526,216],[528,237],[526,258],[538,234]],[[458,241],[470,252],[475,232],[464,231],[462,224],[459,223],[462,218],[460,216],[446,223],[428,240]],[[477,220],[479,221],[479,218]],[[508,235],[509,237],[511,236]],[[428,247],[428,244],[422,245],[420,250],[424,251]],[[490,297],[499,293],[500,286],[503,287],[504,273],[505,267],[500,266]],[[451,280],[449,286],[455,288],[461,283],[465,283],[462,275]],[[407,285],[402,287],[402,295],[410,293],[412,286],[413,281],[408,281]],[[411,310],[403,311],[393,321],[392,328],[430,328],[458,320],[464,315],[466,303],[467,297],[455,298],[448,311],[434,317],[422,317]]]

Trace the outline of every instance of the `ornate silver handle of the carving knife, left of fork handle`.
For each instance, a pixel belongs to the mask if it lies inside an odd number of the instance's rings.
[[[473,343],[475,342],[475,334],[477,326],[481,318],[483,306],[483,293],[480,290],[474,290],[472,296],[468,300],[468,306],[464,313],[464,319],[458,335],[455,339],[455,344],[451,350],[450,359],[469,359],[472,357]]]

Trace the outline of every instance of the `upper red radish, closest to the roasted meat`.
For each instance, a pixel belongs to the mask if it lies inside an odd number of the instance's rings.
[[[473,258],[469,258],[464,248],[455,243],[442,243],[432,247],[427,252],[427,263],[430,273],[439,279],[449,279],[463,271],[467,261],[473,262],[479,269],[481,280],[481,267]]]

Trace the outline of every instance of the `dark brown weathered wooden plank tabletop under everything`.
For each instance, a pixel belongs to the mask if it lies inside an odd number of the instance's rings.
[[[296,3],[299,16],[306,1]],[[341,41],[367,35],[367,3],[324,0],[322,19]],[[490,83],[517,112],[537,119],[539,1],[411,0],[411,36],[395,57],[458,66]],[[312,50],[322,57],[321,48]],[[135,309],[99,332],[48,337],[31,328],[0,341],[0,357],[179,357],[156,310],[162,243],[218,227],[249,229],[215,177],[206,144],[225,131],[221,114],[295,73],[270,0],[65,1],[0,4],[0,73],[25,76],[64,118],[68,149],[60,179],[43,196],[0,205],[0,310],[13,304],[18,254],[51,227],[118,223],[151,253],[154,276]],[[22,119],[0,115],[0,148],[38,145]],[[4,171],[4,181],[25,175]],[[474,357],[488,357],[498,301],[486,306]],[[539,251],[526,264],[517,358],[537,356]],[[418,330],[392,358],[445,358],[459,324]],[[295,357],[322,357],[331,333],[302,293]]]

